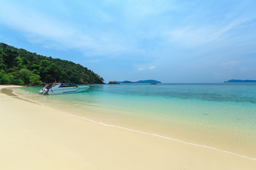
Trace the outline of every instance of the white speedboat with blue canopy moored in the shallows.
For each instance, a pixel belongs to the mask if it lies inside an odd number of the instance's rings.
[[[89,86],[77,86],[75,83],[56,83],[50,84],[42,88],[38,94],[40,95],[60,95],[69,93],[79,93],[86,91]]]

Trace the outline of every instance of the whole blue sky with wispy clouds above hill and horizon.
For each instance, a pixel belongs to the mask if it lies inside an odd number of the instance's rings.
[[[256,79],[255,0],[1,0],[0,42],[109,81]]]

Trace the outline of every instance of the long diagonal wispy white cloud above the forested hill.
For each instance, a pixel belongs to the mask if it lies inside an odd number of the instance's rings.
[[[86,26],[86,21],[70,25],[68,20],[58,20],[55,15],[47,15],[25,6],[11,3],[3,6],[0,8],[1,22],[20,31],[32,43],[47,44],[45,46],[48,48],[78,49],[86,51],[88,55],[106,55],[132,49],[115,32],[104,32],[99,28],[92,30]]]

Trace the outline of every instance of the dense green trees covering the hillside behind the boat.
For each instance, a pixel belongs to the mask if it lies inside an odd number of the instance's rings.
[[[37,85],[56,81],[104,84],[102,77],[80,64],[0,43],[0,84]]]

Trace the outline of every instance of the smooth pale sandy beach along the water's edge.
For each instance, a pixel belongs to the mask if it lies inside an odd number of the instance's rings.
[[[0,85],[0,170],[253,170],[256,160],[97,124]]]

